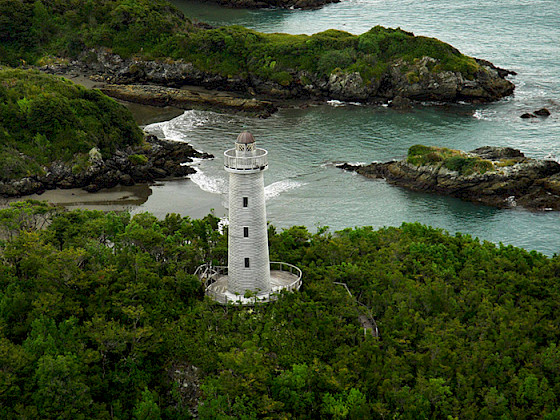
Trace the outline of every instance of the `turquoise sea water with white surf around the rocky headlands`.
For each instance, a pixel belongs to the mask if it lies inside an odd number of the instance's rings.
[[[148,131],[188,141],[218,156],[201,162],[190,181],[165,183],[137,211],[199,216],[227,191],[223,150],[248,129],[269,151],[265,174],[269,220],[276,226],[398,226],[419,221],[552,255],[560,250],[560,215],[513,208],[498,210],[448,197],[412,193],[382,180],[343,172],[333,163],[399,159],[413,144],[472,150],[512,146],[538,158],[560,157],[560,7],[557,0],[343,0],[315,11],[240,11],[174,3],[214,25],[241,24],[265,32],[314,33],[338,28],[362,33],[372,26],[400,26],[449,42],[463,53],[518,72],[515,95],[489,105],[423,105],[410,112],[331,103],[284,109],[269,119],[187,111]],[[519,118],[546,106],[548,119]],[[194,187],[196,185],[197,187]],[[204,192],[193,193],[193,188]],[[188,193],[187,193],[188,191]]]

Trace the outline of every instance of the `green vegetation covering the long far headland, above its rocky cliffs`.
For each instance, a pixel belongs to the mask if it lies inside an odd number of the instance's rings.
[[[184,59],[223,76],[254,74],[284,85],[297,70],[358,71],[371,82],[399,58],[412,62],[431,56],[440,60],[433,71],[456,70],[469,78],[479,67],[434,38],[380,26],[359,36],[336,30],[263,34],[239,26],[204,30],[164,0],[0,0],[2,27],[0,57],[11,65],[104,46],[125,57]]]

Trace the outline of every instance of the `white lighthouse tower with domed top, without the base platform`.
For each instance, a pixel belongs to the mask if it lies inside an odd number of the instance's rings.
[[[247,131],[224,153],[229,172],[228,291],[270,293],[270,262],[263,172],[268,152]]]

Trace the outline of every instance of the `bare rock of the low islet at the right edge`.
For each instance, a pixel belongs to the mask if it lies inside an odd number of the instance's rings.
[[[522,206],[530,210],[560,210],[560,164],[525,157],[511,148],[483,147],[470,152],[488,159],[493,170],[460,175],[441,164],[415,166],[406,160],[340,168],[382,178],[415,191],[432,192],[500,208]]]

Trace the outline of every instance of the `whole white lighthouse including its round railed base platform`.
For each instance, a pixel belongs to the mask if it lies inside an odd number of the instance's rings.
[[[245,131],[235,148],[224,152],[224,169],[229,173],[228,266],[199,267],[206,294],[220,303],[253,304],[274,300],[282,290],[298,290],[301,270],[269,261],[263,180],[268,152]]]

